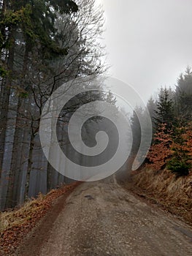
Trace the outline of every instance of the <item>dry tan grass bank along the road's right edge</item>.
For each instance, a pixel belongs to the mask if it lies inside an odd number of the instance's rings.
[[[176,178],[169,170],[144,169],[132,175],[132,182],[147,198],[192,224],[192,173]]]

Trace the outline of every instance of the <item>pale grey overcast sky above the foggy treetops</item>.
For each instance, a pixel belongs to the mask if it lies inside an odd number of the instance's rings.
[[[145,101],[192,66],[192,0],[96,0],[106,18],[110,74]]]

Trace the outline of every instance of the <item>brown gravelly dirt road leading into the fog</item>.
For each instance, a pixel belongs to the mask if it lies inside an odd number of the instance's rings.
[[[31,234],[19,255],[192,255],[191,227],[115,181],[81,184],[49,225],[46,234]]]

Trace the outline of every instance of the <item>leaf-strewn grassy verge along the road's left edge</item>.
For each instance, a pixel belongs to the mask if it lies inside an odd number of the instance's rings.
[[[15,250],[23,238],[41,222],[47,213],[50,214],[53,211],[56,218],[61,208],[64,208],[66,197],[79,184],[80,182],[74,182],[64,185],[51,190],[47,195],[39,194],[36,199],[28,200],[23,206],[1,212],[0,256],[15,255]]]

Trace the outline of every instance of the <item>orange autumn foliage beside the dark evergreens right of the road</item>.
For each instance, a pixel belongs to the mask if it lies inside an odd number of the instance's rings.
[[[192,166],[192,123],[177,127],[174,132],[167,132],[166,124],[162,124],[147,154],[147,167],[162,170],[173,157]]]

